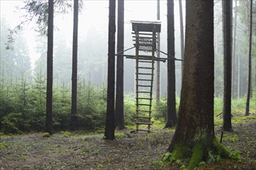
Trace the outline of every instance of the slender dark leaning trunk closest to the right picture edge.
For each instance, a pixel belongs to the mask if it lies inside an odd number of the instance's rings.
[[[247,87],[247,100],[245,116],[249,115],[250,110],[250,98],[251,98],[251,36],[252,36],[252,0],[250,5],[250,29],[249,29],[249,59],[248,59],[248,87]]]

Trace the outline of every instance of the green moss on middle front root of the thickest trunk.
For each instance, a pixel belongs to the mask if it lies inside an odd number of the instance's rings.
[[[202,162],[204,149],[201,144],[196,143],[194,148],[192,148],[192,156],[189,161],[189,169],[193,169]]]

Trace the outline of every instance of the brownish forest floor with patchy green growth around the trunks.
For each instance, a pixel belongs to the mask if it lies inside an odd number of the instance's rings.
[[[215,120],[220,138],[221,118]],[[221,160],[199,169],[256,169],[256,114],[234,115],[234,132],[224,132],[223,145],[239,152],[242,160]],[[0,169],[179,169],[161,166],[175,129],[154,128],[149,134],[116,131],[116,141],[103,139],[102,131],[2,135]]]

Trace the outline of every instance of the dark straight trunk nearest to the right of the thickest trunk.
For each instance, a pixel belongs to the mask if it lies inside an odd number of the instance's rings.
[[[223,131],[233,131],[231,125],[231,79],[232,79],[232,1],[223,0],[223,50],[224,92]]]

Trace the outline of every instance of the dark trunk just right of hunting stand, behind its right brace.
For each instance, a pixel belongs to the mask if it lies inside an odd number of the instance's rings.
[[[174,1],[167,2],[167,49],[168,57],[175,57],[175,16]],[[175,93],[175,60],[168,59],[168,96],[167,121],[164,128],[172,128],[177,124]]]

